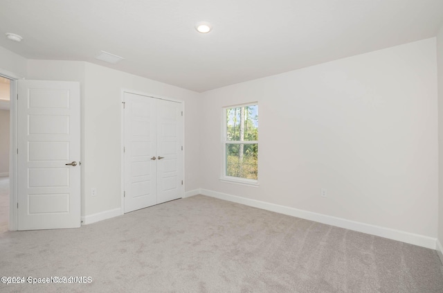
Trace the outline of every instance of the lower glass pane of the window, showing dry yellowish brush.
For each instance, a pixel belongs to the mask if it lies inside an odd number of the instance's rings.
[[[226,143],[226,176],[257,180],[257,157],[257,143]]]

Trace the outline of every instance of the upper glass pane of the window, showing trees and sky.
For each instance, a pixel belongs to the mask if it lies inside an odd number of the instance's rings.
[[[258,105],[226,109],[226,141],[258,140]]]

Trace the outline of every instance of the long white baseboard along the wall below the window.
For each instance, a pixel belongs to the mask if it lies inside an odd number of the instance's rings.
[[[332,217],[330,215],[323,215],[320,213],[313,213],[310,211],[303,211],[297,208],[291,208],[289,206],[280,206],[278,204],[271,204],[269,202],[261,202],[255,199],[248,199],[245,197],[239,197],[236,195],[228,195],[226,193],[219,193],[213,190],[201,189],[200,194],[215,197],[218,199],[228,200],[230,202],[236,202],[237,204],[244,204],[246,206],[253,206],[255,208],[262,208],[267,211],[273,211],[275,213],[282,213],[284,215],[291,215],[293,217],[301,217],[302,219],[311,220],[314,222],[320,222],[323,224],[329,224],[335,227],[344,229],[350,229],[353,231],[359,231],[362,233],[371,234],[374,236],[380,236],[392,240],[410,243],[421,247],[430,249],[436,248],[436,238],[423,236],[415,233],[409,233],[405,231],[399,231],[395,229],[379,227],[372,224],[365,224],[362,222],[355,222],[352,220],[346,220],[341,217]]]

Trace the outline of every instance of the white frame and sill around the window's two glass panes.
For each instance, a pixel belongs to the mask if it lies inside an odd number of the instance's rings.
[[[222,111],[221,111],[221,115],[222,115],[222,125],[221,127],[223,128],[223,130],[221,131],[221,144],[223,145],[222,149],[223,149],[223,155],[221,157],[221,177],[220,177],[220,181],[226,182],[226,183],[233,183],[233,184],[240,184],[240,185],[246,185],[246,186],[258,186],[258,173],[257,173],[257,180],[255,179],[246,179],[246,178],[241,178],[241,177],[233,177],[233,176],[226,176],[226,143],[243,143],[243,144],[254,144],[256,143],[258,145],[258,141],[227,141],[226,140],[226,109],[232,109],[232,108],[238,108],[238,107],[246,107],[246,106],[253,106],[253,105],[257,105],[258,106],[258,102],[252,102],[252,103],[247,103],[247,104],[240,104],[240,105],[230,105],[230,106],[226,106],[223,107]],[[260,111],[260,110],[259,110]],[[259,130],[260,132],[260,130]],[[260,147],[259,147],[259,152],[260,152]],[[260,156],[259,156],[260,157]],[[257,168],[258,168],[258,160],[257,160]]]

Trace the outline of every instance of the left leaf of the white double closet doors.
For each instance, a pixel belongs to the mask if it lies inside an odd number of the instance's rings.
[[[125,213],[157,203],[156,99],[124,94]]]

